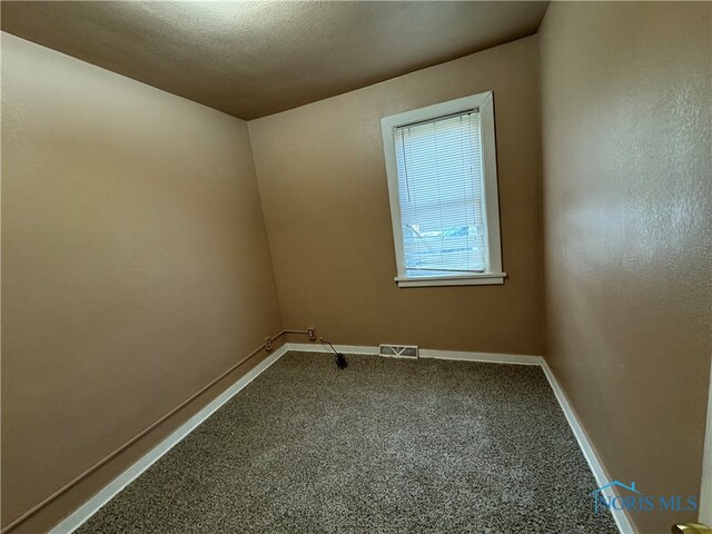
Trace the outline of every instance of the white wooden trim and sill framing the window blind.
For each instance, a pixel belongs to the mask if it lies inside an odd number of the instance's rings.
[[[406,276],[405,248],[403,243],[403,229],[400,227],[402,217],[394,137],[395,129],[413,122],[466,112],[476,108],[479,109],[479,123],[482,128],[481,139],[487,234],[487,270],[485,273],[453,276]],[[386,160],[386,175],[388,178],[388,197],[390,200],[390,220],[393,224],[393,239],[398,273],[394,280],[398,284],[398,287],[494,285],[504,283],[504,278],[507,275],[502,270],[500,199],[497,192],[497,155],[494,128],[494,98],[492,91],[457,98],[447,102],[436,103],[434,106],[427,106],[425,108],[414,109],[380,119],[384,157]]]

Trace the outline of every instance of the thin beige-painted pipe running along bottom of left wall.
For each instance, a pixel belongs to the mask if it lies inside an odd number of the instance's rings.
[[[281,336],[284,336],[285,334],[308,334],[307,330],[281,330],[279,334],[275,335],[271,337],[271,339],[277,339]],[[17,520],[12,521],[11,523],[9,523],[4,528],[2,528],[2,531],[0,531],[0,534],[6,534],[8,532],[10,532],[11,530],[13,530],[14,527],[17,527],[18,525],[20,525],[21,523],[23,523],[24,521],[27,521],[28,518],[30,518],[31,516],[33,516],[37,512],[39,512],[40,510],[42,510],[44,506],[47,506],[49,503],[51,503],[52,501],[55,501],[57,497],[59,497],[60,495],[62,495],[63,493],[66,493],[67,491],[71,490],[72,487],[75,487],[77,484],[79,484],[81,481],[83,481],[87,476],[89,476],[90,474],[92,474],[95,471],[97,471],[99,467],[106,465],[108,462],[110,462],[112,458],[115,458],[116,456],[118,456],[119,454],[121,454],[123,451],[126,451],[128,447],[130,447],[132,444],[135,444],[136,442],[138,442],[141,437],[146,436],[149,432],[151,432],[154,428],[156,428],[158,425],[160,425],[161,423],[164,423],[166,419],[168,419],[170,416],[175,415],[177,412],[179,412],[180,409],[185,408],[188,404],[190,404],[192,400],[195,400],[197,397],[199,397],[200,395],[202,395],[205,392],[207,392],[208,389],[210,389],[212,386],[215,386],[218,382],[220,382],[222,378],[225,378],[227,375],[229,375],[230,373],[233,373],[235,369],[237,369],[240,365],[243,365],[245,362],[247,362],[248,359],[250,359],[251,357],[256,356],[257,354],[259,354],[261,350],[265,350],[266,345],[261,344],[259,347],[257,347],[255,350],[253,350],[251,353],[249,353],[247,356],[245,356],[243,359],[240,359],[238,363],[236,363],[235,365],[233,365],[229,369],[227,369],[225,373],[222,373],[220,376],[218,376],[217,378],[215,378],[214,380],[211,380],[209,384],[207,384],[206,386],[201,387],[198,392],[194,393],[192,395],[190,395],[188,398],[186,398],[182,403],[180,403],[178,406],[176,406],[175,408],[172,408],[170,412],[168,412],[166,415],[164,415],[160,419],[154,422],[152,424],[150,424],[149,426],[147,426],[146,428],[144,428],[141,432],[139,432],[136,436],[134,436],[131,439],[129,439],[128,442],[126,442],[123,445],[121,445],[120,447],[118,447],[117,449],[115,449],[112,453],[110,453],[108,456],[105,456],[103,458],[101,458],[99,462],[97,462],[96,464],[93,464],[91,467],[89,467],[87,471],[85,471],[83,473],[81,473],[80,475],[78,475],[77,477],[72,478],[71,481],[69,481],[67,484],[65,484],[62,487],[60,487],[59,490],[57,490],[55,493],[52,493],[50,496],[48,496],[47,498],[42,500],[40,503],[36,504],[34,506],[32,506],[30,510],[28,510],[26,513],[23,513],[22,515],[20,515]]]

